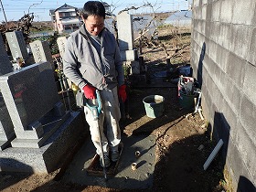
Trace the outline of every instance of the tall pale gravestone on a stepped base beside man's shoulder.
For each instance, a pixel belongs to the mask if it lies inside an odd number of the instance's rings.
[[[133,48],[133,20],[127,11],[117,16],[117,28],[123,65],[131,67],[132,74],[140,74],[138,51]]]

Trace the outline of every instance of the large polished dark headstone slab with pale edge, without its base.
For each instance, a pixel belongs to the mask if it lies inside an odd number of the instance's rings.
[[[59,103],[51,65],[37,63],[0,76],[0,87],[18,139],[43,134],[38,120]]]

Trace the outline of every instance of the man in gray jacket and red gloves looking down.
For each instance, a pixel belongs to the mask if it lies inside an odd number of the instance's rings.
[[[64,74],[79,86],[88,100],[95,99],[95,91],[101,92],[102,111],[94,120],[88,107],[85,118],[90,125],[91,140],[96,153],[101,155],[99,129],[105,166],[119,158],[121,142],[119,98],[126,100],[123,62],[115,37],[104,27],[105,8],[99,1],[88,1],[83,6],[83,25],[68,38],[63,57]],[[105,127],[103,126],[105,125]],[[106,129],[106,134],[104,134]],[[111,157],[111,159],[110,159]]]

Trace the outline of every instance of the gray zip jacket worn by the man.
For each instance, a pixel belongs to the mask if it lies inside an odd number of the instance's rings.
[[[80,90],[87,83],[99,90],[112,89],[124,83],[120,51],[115,37],[106,28],[101,33],[101,57],[84,25],[71,33],[65,46],[63,71]]]

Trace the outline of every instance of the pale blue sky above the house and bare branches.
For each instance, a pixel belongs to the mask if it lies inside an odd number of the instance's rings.
[[[81,8],[87,0],[0,0],[4,6],[7,21],[18,20],[27,13],[34,13],[34,21],[50,20],[49,9],[56,9],[65,3],[67,5]],[[117,14],[124,8],[133,6],[141,6],[146,3],[154,5],[155,12],[167,12],[173,10],[187,9],[189,0],[104,0],[115,7],[113,13]],[[192,2],[192,0],[190,0]],[[0,6],[0,22],[5,21],[2,6]],[[152,8],[147,7],[134,11],[134,13],[152,12]]]

